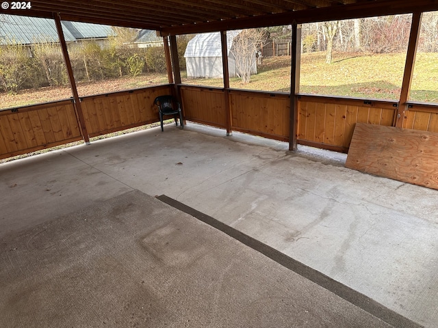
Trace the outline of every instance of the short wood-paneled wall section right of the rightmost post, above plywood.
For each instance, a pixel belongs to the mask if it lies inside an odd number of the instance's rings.
[[[403,128],[438,132],[438,108],[431,105],[409,105],[404,111]]]

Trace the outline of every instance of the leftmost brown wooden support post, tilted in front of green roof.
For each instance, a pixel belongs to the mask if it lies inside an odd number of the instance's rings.
[[[90,137],[88,137],[87,126],[85,124],[85,118],[83,117],[83,111],[81,107],[81,100],[79,99],[79,94],[77,94],[77,87],[75,82],[75,77],[73,76],[73,69],[71,68],[70,57],[68,57],[66,39],[64,38],[64,31],[62,31],[62,24],[60,14],[55,14],[55,25],[57,29],[57,35],[60,38],[60,44],[62,49],[62,55],[64,56],[64,62],[67,68],[68,81],[70,81],[71,91],[73,93],[73,98],[75,100],[75,109],[77,113],[77,118],[79,120],[79,128],[83,137],[83,141],[87,145],[90,144]]]

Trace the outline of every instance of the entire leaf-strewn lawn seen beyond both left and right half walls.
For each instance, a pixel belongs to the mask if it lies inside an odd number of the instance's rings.
[[[300,93],[355,98],[398,100],[404,53],[363,54],[334,53],[333,63],[325,64],[325,53],[305,53],[301,56]],[[258,74],[250,83],[230,79],[236,89],[289,92],[290,57],[266,57],[258,66]],[[223,87],[222,79],[188,79],[181,72],[183,83]],[[77,85],[79,96],[102,94],[168,83],[166,74],[142,74],[136,78],[123,77]],[[68,86],[23,90],[18,94],[0,94],[0,108],[18,107],[38,102],[70,98]],[[438,53],[417,53],[411,87],[411,100],[438,102]]]

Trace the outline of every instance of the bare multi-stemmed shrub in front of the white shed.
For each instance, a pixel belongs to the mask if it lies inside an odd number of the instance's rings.
[[[249,83],[251,72],[256,66],[255,53],[266,41],[266,33],[261,29],[244,29],[233,40],[231,53],[235,58],[235,68],[243,83]]]

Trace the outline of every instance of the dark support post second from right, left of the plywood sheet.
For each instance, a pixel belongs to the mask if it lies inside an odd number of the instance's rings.
[[[298,134],[298,104],[296,94],[300,85],[301,57],[301,25],[292,23],[291,43],[291,72],[290,72],[290,116],[289,116],[289,150],[297,150]]]

